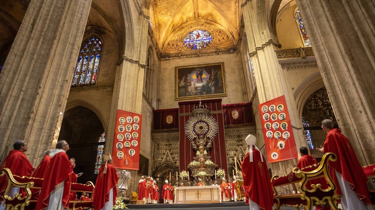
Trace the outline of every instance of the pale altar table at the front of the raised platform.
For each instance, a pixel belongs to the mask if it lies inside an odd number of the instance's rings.
[[[220,186],[188,186],[175,188],[175,204],[221,202]]]

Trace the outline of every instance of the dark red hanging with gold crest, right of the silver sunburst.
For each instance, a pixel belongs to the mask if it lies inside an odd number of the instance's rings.
[[[225,127],[235,127],[243,125],[254,125],[252,104],[223,104],[223,116]]]

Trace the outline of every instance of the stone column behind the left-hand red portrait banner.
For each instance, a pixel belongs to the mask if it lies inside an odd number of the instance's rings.
[[[133,28],[133,30],[135,30],[134,39],[132,41],[124,40],[124,42],[133,43],[133,46],[126,45],[124,55],[121,56],[121,60],[117,66],[112,97],[111,118],[108,123],[108,135],[106,136],[105,141],[105,153],[112,153],[117,109],[142,114],[143,77],[146,68],[145,62],[147,55],[147,18],[149,17],[144,15],[143,12],[136,15],[137,17],[133,17],[136,21],[133,25],[136,26]],[[144,147],[150,147],[150,141],[151,139],[144,139],[141,136],[140,149],[142,150]],[[118,171],[122,171],[122,169]],[[129,179],[129,189],[127,192],[137,192],[139,177],[137,177],[136,170],[129,171],[132,173],[133,178],[131,180]]]

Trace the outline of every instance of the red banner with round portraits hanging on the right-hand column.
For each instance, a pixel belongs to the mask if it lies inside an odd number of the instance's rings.
[[[259,104],[269,163],[298,158],[285,96]]]

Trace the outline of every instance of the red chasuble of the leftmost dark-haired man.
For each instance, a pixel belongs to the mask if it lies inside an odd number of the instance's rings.
[[[8,156],[1,163],[0,169],[9,168],[13,175],[30,177],[33,171],[33,166],[27,160],[26,155],[20,150],[9,151]],[[7,178],[6,176],[0,177],[0,201],[3,201],[4,190],[6,187]],[[25,196],[24,192],[22,194]]]

